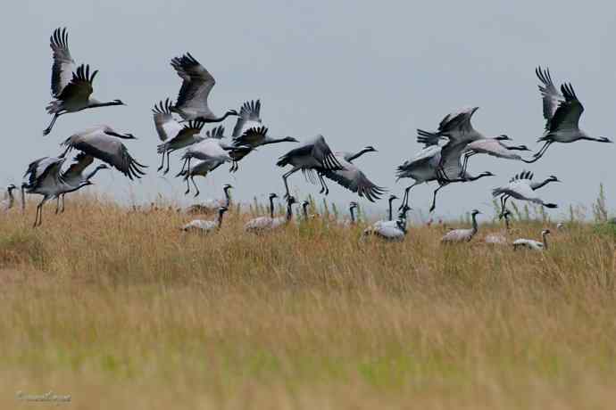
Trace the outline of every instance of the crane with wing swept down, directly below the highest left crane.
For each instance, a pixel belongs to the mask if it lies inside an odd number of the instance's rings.
[[[71,135],[62,145],[66,147],[65,154],[73,149],[84,152],[111,165],[132,180],[146,175],[143,168],[147,168],[137,162],[121,142],[134,139],[137,139],[135,135],[121,134],[109,126],[98,126]]]

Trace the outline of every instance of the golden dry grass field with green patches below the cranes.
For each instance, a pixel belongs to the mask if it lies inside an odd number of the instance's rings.
[[[229,212],[203,236],[76,195],[35,230],[32,205],[0,218],[0,408],[616,406],[614,248],[592,225],[541,254],[482,245],[500,225],[443,247],[438,226],[257,237]]]

